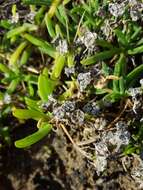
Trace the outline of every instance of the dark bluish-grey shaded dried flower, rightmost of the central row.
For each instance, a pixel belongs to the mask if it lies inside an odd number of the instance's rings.
[[[91,115],[97,115],[101,108],[96,102],[89,102],[83,107],[83,111]]]

